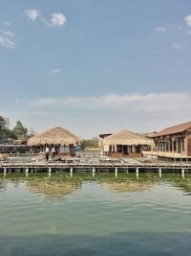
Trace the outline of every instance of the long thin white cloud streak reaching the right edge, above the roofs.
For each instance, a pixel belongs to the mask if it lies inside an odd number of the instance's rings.
[[[191,111],[189,93],[149,93],[107,95],[87,98],[42,98],[32,101],[33,105],[55,108],[87,109],[125,109],[128,112],[170,113],[173,111]],[[175,104],[176,103],[176,104]]]

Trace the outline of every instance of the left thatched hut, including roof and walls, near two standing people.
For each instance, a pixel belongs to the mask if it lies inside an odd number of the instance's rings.
[[[44,152],[46,147],[50,150],[54,147],[58,155],[73,156],[76,146],[83,143],[83,140],[76,137],[66,128],[51,128],[39,135],[33,136],[28,140],[28,145],[36,150]]]

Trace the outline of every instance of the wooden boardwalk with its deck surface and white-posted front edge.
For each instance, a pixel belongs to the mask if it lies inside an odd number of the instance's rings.
[[[165,172],[191,173],[191,163],[147,162],[138,159],[69,158],[65,161],[1,162],[0,173],[7,172]]]

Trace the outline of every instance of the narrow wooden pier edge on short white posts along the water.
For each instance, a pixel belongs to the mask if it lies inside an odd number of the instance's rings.
[[[74,162],[27,162],[0,163],[0,173],[54,173],[54,172],[126,172],[126,173],[191,173],[191,164],[187,163],[74,163]]]

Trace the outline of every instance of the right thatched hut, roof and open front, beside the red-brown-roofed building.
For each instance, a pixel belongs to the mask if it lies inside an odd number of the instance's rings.
[[[122,130],[101,141],[104,154],[110,156],[141,156],[142,151],[151,151],[152,140],[128,130]]]

